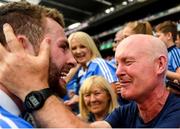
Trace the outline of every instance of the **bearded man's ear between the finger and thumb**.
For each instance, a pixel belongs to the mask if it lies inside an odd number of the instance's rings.
[[[35,55],[34,47],[25,35],[18,35],[17,39],[20,43],[22,43],[22,46],[27,53]]]

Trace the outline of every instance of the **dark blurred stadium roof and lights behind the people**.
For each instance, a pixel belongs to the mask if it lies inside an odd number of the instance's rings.
[[[18,0],[0,0],[0,4]],[[115,33],[134,20],[147,20],[152,26],[165,20],[178,23],[180,0],[26,0],[58,9],[64,14],[65,32],[90,34],[105,57],[113,54]]]

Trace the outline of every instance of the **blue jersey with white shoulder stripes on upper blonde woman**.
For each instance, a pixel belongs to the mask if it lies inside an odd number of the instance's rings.
[[[76,94],[78,94],[83,81],[93,75],[103,76],[109,83],[118,81],[116,67],[102,58],[95,58],[88,62],[87,70],[83,71],[82,67],[79,68],[74,77],[67,84],[67,90],[73,89]]]

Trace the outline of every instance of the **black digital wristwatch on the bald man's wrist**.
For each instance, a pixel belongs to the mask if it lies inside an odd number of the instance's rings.
[[[53,94],[54,93],[50,88],[30,92],[24,100],[26,111],[31,113],[40,109],[44,105],[46,99]]]

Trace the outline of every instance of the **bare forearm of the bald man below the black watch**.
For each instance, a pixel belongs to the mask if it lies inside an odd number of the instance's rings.
[[[44,106],[33,113],[36,121],[45,128],[88,128],[89,124],[75,116],[56,96],[49,97]]]

